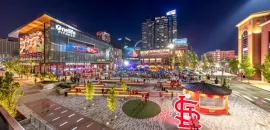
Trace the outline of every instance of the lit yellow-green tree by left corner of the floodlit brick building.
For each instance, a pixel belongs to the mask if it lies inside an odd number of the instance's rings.
[[[255,75],[255,68],[254,65],[251,63],[249,57],[243,57],[241,68],[243,69],[245,77],[248,78],[249,83],[249,78]]]

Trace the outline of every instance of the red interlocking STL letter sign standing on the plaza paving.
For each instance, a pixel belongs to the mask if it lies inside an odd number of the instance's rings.
[[[201,128],[199,123],[200,114],[194,110],[198,101],[187,100],[185,96],[179,96],[179,99],[174,103],[174,109],[179,112],[174,118],[179,120],[178,128],[195,129]]]

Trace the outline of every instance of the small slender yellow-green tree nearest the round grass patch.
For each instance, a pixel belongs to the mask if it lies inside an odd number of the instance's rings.
[[[108,97],[107,97],[107,101],[108,101],[107,106],[111,112],[114,112],[117,106],[116,96],[118,95],[118,93],[116,92],[115,88],[116,86],[109,89]]]

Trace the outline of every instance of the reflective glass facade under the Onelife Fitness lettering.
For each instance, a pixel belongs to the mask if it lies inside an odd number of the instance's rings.
[[[73,36],[70,36],[69,32],[63,34],[56,26],[60,25],[64,29],[68,29],[68,27],[56,22],[51,21],[46,24],[50,24],[50,26],[45,29],[45,63],[97,63],[98,61],[109,63],[111,61],[105,57],[106,50],[110,49],[111,45],[75,30]],[[97,48],[98,53],[72,50],[71,45],[81,48]]]

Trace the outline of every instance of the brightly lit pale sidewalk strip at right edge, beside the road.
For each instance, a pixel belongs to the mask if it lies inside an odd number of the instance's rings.
[[[245,84],[248,84],[248,80],[237,80],[238,82],[242,82]],[[266,91],[270,91],[270,83],[266,83],[263,81],[258,81],[258,80],[249,80],[249,85],[266,90]]]

